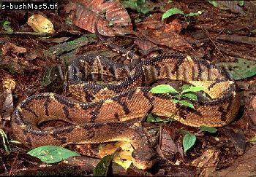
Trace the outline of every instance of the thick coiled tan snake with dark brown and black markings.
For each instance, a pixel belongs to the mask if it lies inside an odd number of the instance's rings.
[[[69,66],[69,91],[78,101],[55,93],[40,93],[22,101],[12,117],[17,140],[29,147],[130,141],[135,148],[132,153],[135,165],[141,169],[151,168],[156,153],[138,126],[137,118],[143,117],[149,107],[152,113],[165,117],[176,111],[176,104],[168,95],[149,92],[148,85],[159,79],[181,80],[205,87],[204,92],[211,97],[194,102],[195,110],[178,112],[175,119],[185,125],[221,127],[236,116],[237,87],[221,68],[177,52],[138,60],[125,65],[101,55],[76,58]],[[90,67],[88,71],[93,73],[104,72],[124,79],[116,84],[87,82],[79,74],[81,65]],[[129,75],[124,76],[127,68]],[[67,122],[67,125],[50,130],[38,128],[42,122],[53,119]]]

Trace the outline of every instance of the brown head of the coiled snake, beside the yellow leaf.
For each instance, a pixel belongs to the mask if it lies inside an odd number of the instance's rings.
[[[135,149],[132,152],[132,157],[132,163],[136,168],[147,170],[157,161],[157,152],[153,149],[148,149],[148,151],[145,151],[145,149]]]

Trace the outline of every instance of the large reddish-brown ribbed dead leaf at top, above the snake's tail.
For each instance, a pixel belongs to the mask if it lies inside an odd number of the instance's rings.
[[[129,14],[118,1],[73,0],[67,4],[65,10],[75,25],[91,33],[94,33],[95,23],[97,23],[99,34],[105,36],[132,33]],[[110,26],[112,24],[113,27]]]

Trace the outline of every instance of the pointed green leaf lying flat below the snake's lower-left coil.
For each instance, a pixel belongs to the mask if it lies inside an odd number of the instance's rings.
[[[59,146],[40,146],[32,149],[28,154],[39,158],[39,160],[42,160],[42,162],[45,163],[55,163],[60,162],[61,160],[66,160],[69,157],[80,156],[80,154],[76,152],[72,152]]]

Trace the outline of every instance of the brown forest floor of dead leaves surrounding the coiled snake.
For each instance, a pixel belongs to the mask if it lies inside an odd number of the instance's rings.
[[[26,147],[12,142],[16,139],[10,117],[18,103],[28,96],[37,93],[69,96],[68,66],[78,55],[93,53],[105,55],[117,63],[130,62],[93,35],[94,23],[97,23],[99,32],[109,36],[106,37],[109,42],[135,51],[143,60],[176,51],[225,66],[236,80],[241,95],[241,108],[236,119],[217,128],[217,132],[203,131],[179,122],[165,123],[162,119],[145,122],[143,127],[147,127],[161,160],[150,170],[138,170],[132,165],[124,170],[113,163],[113,169],[107,169],[108,175],[256,176],[256,2],[214,2],[215,6],[208,1],[129,0],[117,2],[117,7],[122,4],[119,9],[106,7],[108,13],[96,12],[97,5],[86,7],[75,2],[72,4],[72,1],[59,1],[57,10],[1,9],[0,175],[85,176],[95,173],[95,165],[100,160],[88,155],[99,157],[90,150],[97,152],[97,144],[66,146],[83,155],[46,164],[27,154],[29,149]],[[102,1],[91,3],[100,5]],[[162,15],[172,8],[173,14],[170,11],[162,20]],[[75,12],[80,14],[75,16]],[[47,18],[54,29],[48,23],[48,31],[40,31],[38,28],[44,28],[42,23],[34,24],[33,20],[29,23],[32,15]],[[83,23],[86,15],[91,18]],[[111,20],[111,15],[118,18]],[[107,27],[100,25],[106,22]],[[34,32],[35,28],[41,33]],[[56,126],[58,122],[46,125]],[[183,149],[182,130],[196,137],[187,152]],[[7,138],[4,133],[7,133]],[[7,139],[8,144],[3,141]]]

